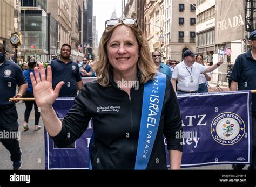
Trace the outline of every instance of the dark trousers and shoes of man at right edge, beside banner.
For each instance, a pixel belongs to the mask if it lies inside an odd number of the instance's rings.
[[[244,164],[233,164],[234,169],[242,169]],[[256,112],[252,111],[252,163],[248,169],[256,169]]]

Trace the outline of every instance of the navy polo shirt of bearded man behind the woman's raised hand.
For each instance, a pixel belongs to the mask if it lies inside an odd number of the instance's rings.
[[[60,59],[55,59],[51,61],[50,66],[52,70],[52,88],[55,89],[60,81],[65,82],[58,97],[76,97],[77,82],[82,80],[78,64],[71,60],[66,64]]]

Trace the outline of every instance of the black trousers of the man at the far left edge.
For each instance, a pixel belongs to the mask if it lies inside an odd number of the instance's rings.
[[[0,131],[5,132],[18,132],[18,113],[15,105],[0,109]],[[9,133],[10,134],[10,133]],[[20,137],[19,137],[20,138]],[[19,148],[19,141],[16,137],[0,137],[0,141],[4,147],[9,150],[11,154],[11,161],[21,160],[21,150]]]

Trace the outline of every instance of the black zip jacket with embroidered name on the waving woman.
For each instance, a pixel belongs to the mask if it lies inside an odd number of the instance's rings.
[[[109,87],[102,87],[97,81],[86,83],[66,114],[61,132],[52,139],[58,147],[70,145],[84,133],[92,118],[95,133],[91,146],[92,168],[134,169],[143,91],[143,84],[139,84],[138,90],[131,89],[129,98],[114,81]],[[167,138],[169,150],[182,151],[182,139],[175,137],[181,128],[178,101],[166,79],[163,110],[147,169],[167,169],[163,135]],[[70,138],[67,133],[70,133]]]

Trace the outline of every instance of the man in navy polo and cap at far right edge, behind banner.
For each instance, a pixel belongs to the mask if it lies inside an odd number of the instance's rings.
[[[256,90],[256,30],[250,34],[249,44],[252,49],[246,53],[240,54],[235,59],[234,68],[231,73],[230,91],[238,90]],[[256,93],[252,93],[252,163],[248,169],[256,169]],[[233,164],[233,169],[242,169],[245,165]]]

